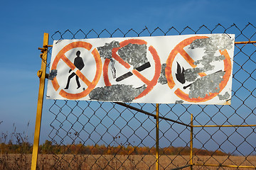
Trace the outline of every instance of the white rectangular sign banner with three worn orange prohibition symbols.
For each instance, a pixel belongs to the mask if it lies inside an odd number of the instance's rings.
[[[53,42],[47,98],[230,104],[235,35]]]

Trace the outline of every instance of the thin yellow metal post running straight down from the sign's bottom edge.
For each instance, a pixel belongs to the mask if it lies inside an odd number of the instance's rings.
[[[159,104],[156,104],[156,170],[159,169]]]

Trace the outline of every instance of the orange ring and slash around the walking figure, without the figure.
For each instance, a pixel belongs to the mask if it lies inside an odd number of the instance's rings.
[[[70,60],[68,60],[68,57],[65,56],[65,52],[68,52],[69,50],[72,50],[73,48],[77,48],[77,47],[85,48],[88,51],[92,49],[92,45],[88,42],[82,42],[82,41],[71,42],[70,44],[63,47],[63,49],[61,49],[60,52],[58,52],[58,55],[56,55],[53,61],[51,69],[52,70],[57,69],[58,62],[60,62],[60,59],[61,59],[63,60],[63,62],[65,62],[65,64],[68,65],[68,67],[70,67],[70,69],[74,70],[76,67],[73,64],[73,62],[70,62]],[[96,48],[92,50],[92,55],[96,62],[96,73],[95,73],[94,79],[92,81],[88,80],[85,77],[85,75],[83,75],[82,72],[80,72],[79,69],[75,72],[75,74],[77,74],[78,77],[87,85],[87,89],[85,89],[84,91],[78,94],[70,94],[64,91],[63,89],[61,89],[59,93],[60,96],[63,96],[63,98],[68,98],[71,100],[77,100],[79,98],[83,98],[87,96],[90,93],[90,91],[92,91],[92,89],[95,88],[95,86],[97,85],[97,82],[100,80],[100,75],[102,72],[102,61],[100,59],[100,54]],[[54,77],[52,84],[55,91],[58,91],[58,89],[60,88],[60,85],[58,84],[56,77]]]

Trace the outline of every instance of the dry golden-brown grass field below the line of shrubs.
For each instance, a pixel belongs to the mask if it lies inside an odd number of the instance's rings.
[[[160,169],[175,169],[187,165],[189,156],[166,156],[159,158]],[[223,164],[235,166],[255,166],[256,157],[238,156],[195,156],[194,164]],[[0,169],[30,169],[31,154],[1,154]],[[155,169],[153,155],[53,155],[40,154],[38,169]],[[185,169],[190,169],[187,167]],[[193,169],[237,169],[219,166],[193,166]],[[242,169],[242,168],[241,168]],[[248,169],[248,168],[245,168]]]

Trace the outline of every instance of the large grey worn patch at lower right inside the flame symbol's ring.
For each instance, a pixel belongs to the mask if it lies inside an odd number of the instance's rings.
[[[208,74],[205,77],[196,79],[189,86],[189,98],[204,98],[210,93],[219,93],[220,92],[220,82],[223,81],[223,76],[225,72],[219,71],[213,74]]]

